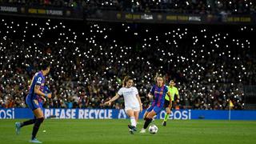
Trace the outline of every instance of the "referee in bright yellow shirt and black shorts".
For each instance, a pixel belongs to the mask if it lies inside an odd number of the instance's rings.
[[[171,99],[172,99],[172,103],[174,103],[174,95],[177,96],[177,102],[179,102],[178,89],[177,89],[177,87],[175,87],[174,80],[171,80],[169,84],[170,84],[170,86],[168,86],[168,90],[170,91],[170,96],[171,96]],[[170,98],[167,94],[166,94],[165,98],[166,98],[166,100],[165,100],[166,115],[165,115],[165,118],[162,122],[162,126],[166,126],[167,119],[169,118],[169,115],[171,114],[171,109],[170,109],[171,107],[169,106]]]

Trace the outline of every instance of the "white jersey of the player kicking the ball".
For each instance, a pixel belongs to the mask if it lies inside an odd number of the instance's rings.
[[[138,90],[136,87],[131,86],[130,88],[122,87],[118,90],[118,95],[122,95],[125,99],[125,106],[127,107],[140,107],[138,98],[136,95],[138,94]]]

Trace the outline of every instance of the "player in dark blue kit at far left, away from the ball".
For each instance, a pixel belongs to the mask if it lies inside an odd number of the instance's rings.
[[[30,142],[32,143],[42,143],[38,141],[38,139],[36,138],[39,127],[44,120],[44,116],[42,113],[42,99],[51,98],[51,93],[46,94],[42,92],[42,91],[45,91],[45,88],[44,88],[45,76],[46,74],[49,74],[50,63],[43,61],[41,66],[42,66],[42,70],[34,74],[34,77],[30,85],[29,94],[26,96],[26,104],[33,111],[34,119],[30,119],[26,122],[15,122],[16,134],[20,133],[20,129],[23,126],[34,124],[33,131],[32,131],[32,138],[30,140]]]

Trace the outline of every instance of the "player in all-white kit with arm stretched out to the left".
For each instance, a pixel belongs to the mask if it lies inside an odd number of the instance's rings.
[[[123,96],[125,100],[126,114],[130,117],[130,125],[128,125],[130,134],[134,134],[134,131],[137,130],[136,125],[138,122],[138,115],[139,112],[142,111],[142,101],[138,95],[138,90],[133,86],[133,83],[133,78],[126,76],[123,80],[122,88],[118,90],[118,94],[105,102],[105,104],[110,104],[110,102],[114,102],[120,96]]]

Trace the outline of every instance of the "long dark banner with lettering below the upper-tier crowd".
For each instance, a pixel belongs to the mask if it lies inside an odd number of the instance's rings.
[[[254,14],[172,14],[132,13],[116,10],[83,10],[81,8],[56,8],[42,6],[0,5],[0,14],[27,17],[63,18],[105,22],[149,22],[184,24],[255,24]]]

